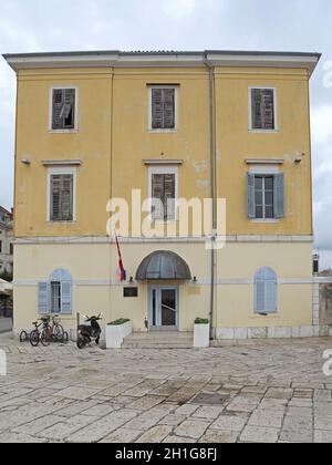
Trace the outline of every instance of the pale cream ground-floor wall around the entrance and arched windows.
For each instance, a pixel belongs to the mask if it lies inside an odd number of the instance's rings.
[[[179,285],[179,327],[193,330],[197,317],[209,316],[209,252],[204,244],[167,244],[164,249],[180,255],[189,265],[198,283]],[[158,244],[123,245],[122,252],[127,278],[135,277],[141,261]],[[110,260],[110,257],[111,260]],[[71,271],[73,317],[63,317],[65,326],[75,327],[75,313],[104,313],[104,323],[129,318],[136,331],[144,330],[147,316],[147,285],[138,283],[138,299],[124,299],[123,285],[117,281],[115,246],[111,245],[17,245],[14,270],[14,328],[29,328],[37,318],[38,281],[48,280],[56,268]],[[246,257],[246,259],[243,259]],[[312,285],[310,244],[228,244],[218,252],[219,285],[216,286],[214,327],[282,327],[312,323]],[[32,266],[33,264],[33,266]],[[110,266],[111,264],[111,266]],[[262,266],[272,267],[280,280],[278,313],[257,317],[253,313],[253,276]],[[295,279],[298,283],[291,283]],[[301,283],[301,280],[308,283]],[[107,285],[107,280],[112,281]],[[228,282],[232,280],[234,282]],[[245,280],[245,282],[237,280]],[[304,281],[305,282],[305,281]],[[129,286],[127,282],[126,286]]]

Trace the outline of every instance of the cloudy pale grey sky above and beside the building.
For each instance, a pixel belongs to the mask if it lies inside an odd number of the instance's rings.
[[[332,267],[331,0],[0,3],[0,53],[96,49],[322,52],[311,83],[315,235],[323,266]],[[12,72],[0,59],[0,205],[8,208],[12,205],[14,86]]]

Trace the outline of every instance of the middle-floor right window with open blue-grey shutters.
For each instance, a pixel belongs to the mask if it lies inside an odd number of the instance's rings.
[[[284,174],[247,174],[247,213],[251,219],[284,217]]]

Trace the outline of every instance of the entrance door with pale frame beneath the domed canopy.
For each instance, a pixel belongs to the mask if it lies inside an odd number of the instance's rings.
[[[152,287],[149,289],[149,329],[153,331],[176,331],[178,329],[178,289]]]

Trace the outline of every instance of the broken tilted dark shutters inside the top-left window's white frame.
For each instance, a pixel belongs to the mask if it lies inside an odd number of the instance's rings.
[[[69,131],[75,128],[76,90],[52,89],[51,130]]]

